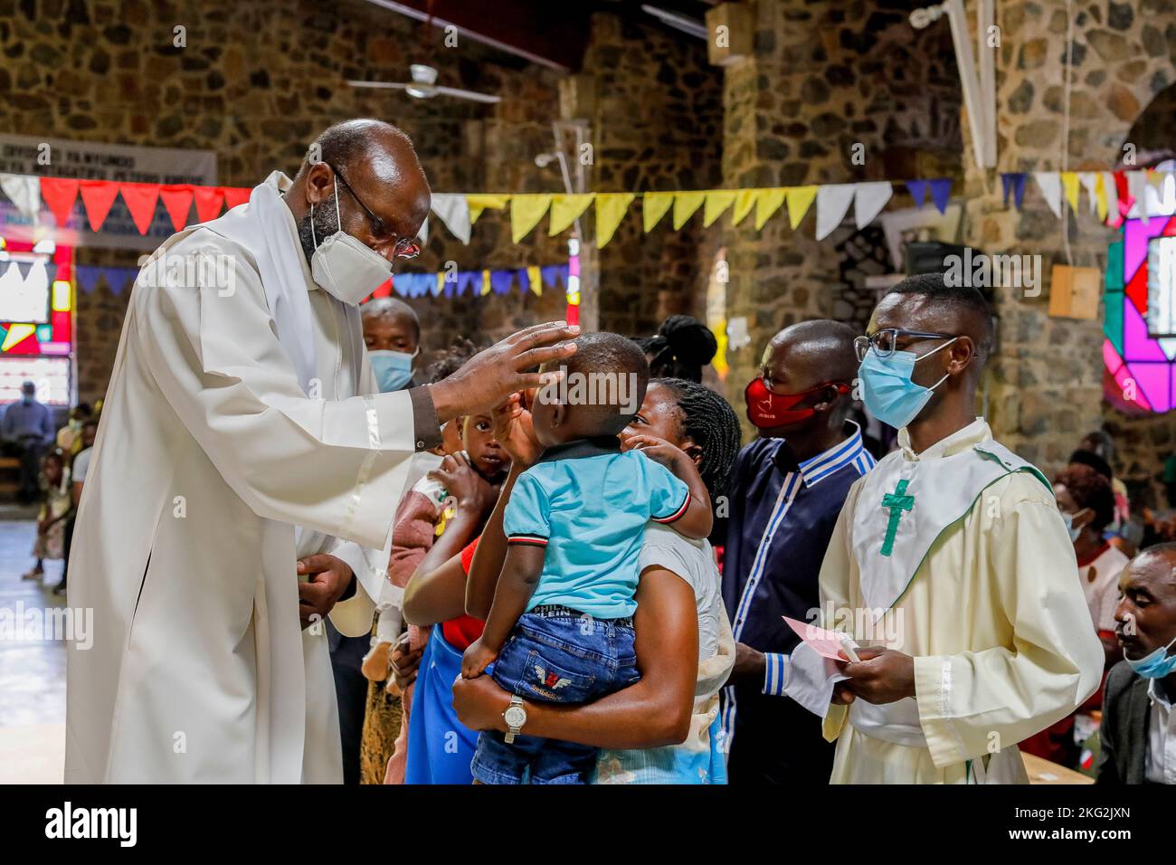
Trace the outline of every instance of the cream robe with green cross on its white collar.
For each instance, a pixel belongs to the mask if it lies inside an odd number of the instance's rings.
[[[1044,478],[982,418],[921,454],[906,430],[898,441],[849,491],[821,603],[858,645],[913,656],[915,697],[830,706],[824,680],[831,783],[1027,783],[1016,743],[1073,712],[1102,673],[1065,525]],[[800,690],[820,678],[802,670]]]

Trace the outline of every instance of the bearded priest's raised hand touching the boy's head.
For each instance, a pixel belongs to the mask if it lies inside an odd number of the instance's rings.
[[[532,370],[574,354],[576,346],[568,340],[577,335],[577,325],[547,321],[479,352],[453,375],[428,386],[437,420],[443,424],[462,414],[488,414],[517,391],[556,381],[557,371]]]

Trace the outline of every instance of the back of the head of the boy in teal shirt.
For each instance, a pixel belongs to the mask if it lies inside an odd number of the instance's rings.
[[[590,397],[576,405],[576,415],[588,435],[616,435],[641,407],[649,385],[649,364],[633,340],[619,333],[586,333],[576,340],[576,353],[560,361],[569,399],[580,381]],[[632,411],[627,407],[632,406]]]

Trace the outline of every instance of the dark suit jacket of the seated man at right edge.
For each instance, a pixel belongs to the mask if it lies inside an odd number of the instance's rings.
[[[1148,679],[1120,661],[1107,676],[1103,719],[1098,728],[1097,784],[1144,784],[1148,757]]]

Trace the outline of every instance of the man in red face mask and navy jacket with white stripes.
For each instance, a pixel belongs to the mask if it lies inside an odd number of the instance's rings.
[[[821,560],[850,485],[874,466],[846,415],[857,374],[854,330],[802,321],[773,337],[744,393],[760,438],[730,480],[723,601],[735,668],[723,688],[731,784],[827,784],[833,746],[814,716],[783,696],[799,643],[782,616],[815,621]]]

